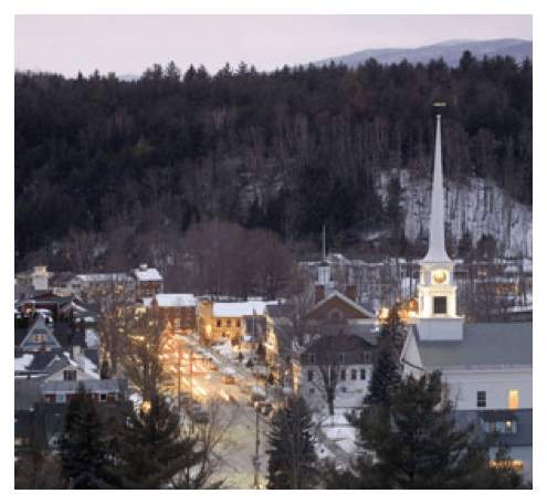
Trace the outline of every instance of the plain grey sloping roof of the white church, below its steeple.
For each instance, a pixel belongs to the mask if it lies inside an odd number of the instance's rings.
[[[413,330],[424,368],[532,367],[532,326],[529,322],[464,324],[459,342],[425,342],[417,326]]]

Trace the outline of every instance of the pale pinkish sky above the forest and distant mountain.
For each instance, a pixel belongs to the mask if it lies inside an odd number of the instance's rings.
[[[10,0],[4,0],[10,1]],[[171,60],[182,71],[228,62],[272,71],[366,49],[451,39],[532,40],[532,14],[18,14],[14,67],[74,77],[140,75]]]

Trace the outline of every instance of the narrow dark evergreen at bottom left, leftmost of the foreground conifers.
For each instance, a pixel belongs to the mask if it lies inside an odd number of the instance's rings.
[[[92,396],[81,384],[66,408],[61,438],[63,474],[72,489],[97,489],[105,468],[105,432]]]

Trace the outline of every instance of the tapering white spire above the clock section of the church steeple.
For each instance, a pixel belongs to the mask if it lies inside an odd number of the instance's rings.
[[[441,114],[436,115],[433,191],[431,193],[431,220],[429,225],[429,251],[425,263],[450,263],[444,245],[444,191],[442,183]]]

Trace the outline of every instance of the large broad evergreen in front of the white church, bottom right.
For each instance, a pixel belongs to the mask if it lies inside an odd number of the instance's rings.
[[[375,461],[360,458],[351,471],[329,476],[329,487],[340,482],[358,489],[496,489],[517,487],[512,474],[487,466],[492,439],[480,441],[470,424],[455,426],[453,407],[443,397],[441,372],[396,388],[391,406],[372,417],[365,411],[354,424],[360,445]]]

